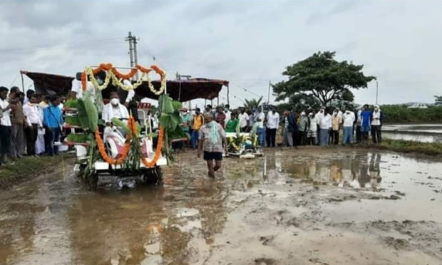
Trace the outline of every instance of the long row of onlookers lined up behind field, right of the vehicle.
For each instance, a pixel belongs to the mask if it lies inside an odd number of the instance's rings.
[[[264,113],[262,108],[230,110],[229,105],[212,109],[207,105],[204,113],[200,108],[191,115],[183,109],[183,129],[191,135],[191,145],[197,148],[200,129],[204,125],[203,115],[210,113],[216,123],[224,128],[225,133],[250,133],[258,136],[259,145],[277,146],[277,133],[281,133],[283,146],[299,145],[351,145],[354,142],[367,144],[371,133],[372,142],[379,143],[384,115],[378,105],[370,110],[369,105],[362,106],[356,112],[351,108],[320,108],[297,113],[286,110],[282,115],[273,108]],[[340,138],[340,135],[341,138]]]

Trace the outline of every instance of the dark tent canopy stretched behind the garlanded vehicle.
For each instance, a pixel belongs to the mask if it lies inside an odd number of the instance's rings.
[[[72,80],[74,79],[71,76],[60,76],[50,73],[36,73],[29,71],[21,71],[21,73],[31,78],[31,80],[34,81],[36,93],[43,95],[67,95],[71,90]],[[158,90],[161,85],[160,80],[153,80],[152,84],[156,90]],[[196,98],[212,100],[217,98],[223,85],[228,87],[229,81],[206,78],[168,80],[167,92],[171,98],[181,102]],[[106,98],[106,95],[108,95],[108,91],[106,90],[111,89],[115,89],[115,87],[108,85],[108,88],[103,91],[103,98]],[[158,99],[158,95],[155,95],[150,91],[147,81],[144,81],[138,88],[135,89],[135,95],[139,95],[142,98],[147,97]]]

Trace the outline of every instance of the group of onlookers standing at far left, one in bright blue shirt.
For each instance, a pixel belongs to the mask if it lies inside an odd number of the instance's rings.
[[[58,155],[64,98],[0,87],[0,165],[24,155]]]

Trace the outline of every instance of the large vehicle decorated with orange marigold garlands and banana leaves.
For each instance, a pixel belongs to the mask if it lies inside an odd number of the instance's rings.
[[[100,84],[96,74],[103,71],[106,77]],[[122,80],[133,78],[138,71],[142,75],[135,83],[122,82]],[[152,85],[148,76],[150,71],[155,71],[160,75],[161,85],[158,90]],[[168,135],[186,136],[177,122],[180,120],[180,103],[173,103],[173,100],[165,94],[165,76],[165,72],[158,66],[150,68],[136,66],[129,73],[120,73],[111,64],[101,64],[98,68],[86,68],[81,74],[83,97],[66,103],[66,127],[71,129],[67,143],[74,145],[76,149],[77,162],[74,170],[91,189],[96,189],[98,177],[101,175],[133,177],[138,181],[157,184],[161,182],[160,166],[168,165],[173,161],[173,156],[168,149]],[[86,89],[89,81],[95,88],[95,97]],[[159,95],[160,126],[158,130],[153,132],[150,126],[151,115],[143,115],[144,127],[142,128],[140,123],[135,121],[133,113],[130,113],[127,119],[112,118],[112,126],[105,125],[103,120],[99,119],[98,111],[103,109],[101,90],[108,88],[112,82],[113,87],[133,91],[143,81],[148,82],[152,93]],[[176,108],[173,107],[174,105]],[[146,108],[140,111],[144,110]],[[76,133],[76,129],[80,129],[81,133]],[[154,142],[156,142],[155,146]]]

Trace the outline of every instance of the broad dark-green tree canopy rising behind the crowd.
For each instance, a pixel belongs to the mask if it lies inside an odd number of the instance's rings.
[[[364,76],[362,68],[347,61],[338,62],[334,52],[318,52],[302,61],[287,66],[282,73],[289,80],[273,85],[276,100],[297,95],[299,98],[317,98],[322,105],[332,100],[353,100],[350,89],[366,88],[367,83],[376,79]]]

